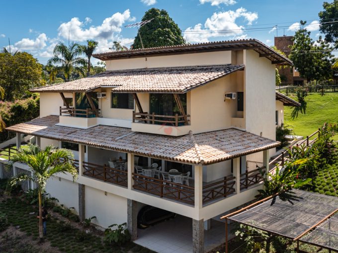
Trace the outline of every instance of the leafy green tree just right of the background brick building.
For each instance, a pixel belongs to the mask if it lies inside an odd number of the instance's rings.
[[[306,21],[301,20],[302,28],[293,38],[290,59],[308,82],[312,80],[326,80],[332,77],[333,55],[332,47],[320,37],[315,43],[310,37],[311,32],[304,28]]]

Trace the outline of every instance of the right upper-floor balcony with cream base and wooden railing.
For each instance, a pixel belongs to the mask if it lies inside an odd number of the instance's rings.
[[[190,115],[157,115],[155,113],[135,113],[133,111],[132,130],[171,136],[189,133]]]

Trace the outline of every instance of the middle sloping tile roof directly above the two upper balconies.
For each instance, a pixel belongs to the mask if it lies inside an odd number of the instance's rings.
[[[87,92],[115,87],[114,92],[186,93],[212,80],[244,69],[244,65],[206,65],[104,71],[78,80],[33,88],[32,92]]]

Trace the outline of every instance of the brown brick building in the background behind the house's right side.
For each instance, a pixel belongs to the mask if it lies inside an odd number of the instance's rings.
[[[287,57],[291,53],[290,46],[293,45],[293,36],[274,37],[274,45],[282,51]],[[282,85],[303,85],[306,79],[299,76],[299,72],[293,66],[278,68]]]

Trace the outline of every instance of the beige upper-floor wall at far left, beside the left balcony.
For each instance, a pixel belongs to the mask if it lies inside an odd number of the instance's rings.
[[[66,98],[72,98],[72,93],[64,93]],[[63,100],[58,92],[40,93],[40,117],[48,115],[59,115],[60,106],[63,106]]]

